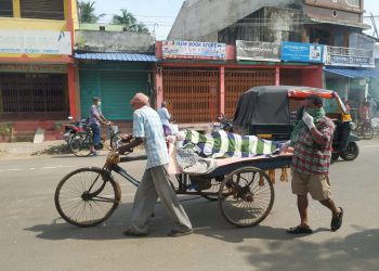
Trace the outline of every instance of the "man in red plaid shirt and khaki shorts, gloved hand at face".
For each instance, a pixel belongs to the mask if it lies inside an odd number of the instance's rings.
[[[312,233],[308,219],[308,193],[331,211],[331,231],[342,224],[343,209],[337,208],[331,197],[329,183],[329,165],[335,124],[325,116],[323,100],[318,95],[310,95],[304,100],[302,120],[293,129],[291,141],[292,156],[292,193],[297,195],[300,224],[290,228],[291,234]]]

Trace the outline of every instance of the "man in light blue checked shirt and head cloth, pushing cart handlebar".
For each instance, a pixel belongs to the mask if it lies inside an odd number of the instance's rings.
[[[153,214],[158,197],[174,221],[173,229],[168,235],[177,237],[191,234],[191,221],[179,203],[165,169],[165,165],[169,163],[169,155],[159,115],[149,106],[148,98],[143,93],[136,93],[130,104],[134,109],[134,139],[129,144],[119,147],[118,151],[123,154],[144,143],[147,165],[135,193],[131,225],[123,234],[128,236],[148,235],[148,218]]]

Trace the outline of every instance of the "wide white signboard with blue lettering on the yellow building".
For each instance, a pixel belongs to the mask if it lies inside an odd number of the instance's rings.
[[[73,53],[70,33],[0,30],[0,53],[70,55]]]

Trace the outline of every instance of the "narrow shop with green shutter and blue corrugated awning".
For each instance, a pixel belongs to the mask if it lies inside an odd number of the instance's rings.
[[[136,92],[153,94],[154,38],[122,26],[83,24],[76,30],[75,55],[80,95],[78,116],[87,118],[93,96],[102,99],[104,116],[130,130]]]

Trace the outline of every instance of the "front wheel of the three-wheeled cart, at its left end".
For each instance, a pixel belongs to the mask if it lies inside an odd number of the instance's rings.
[[[55,207],[68,223],[92,227],[105,221],[121,198],[119,184],[101,168],[80,168],[65,176],[55,190]]]

